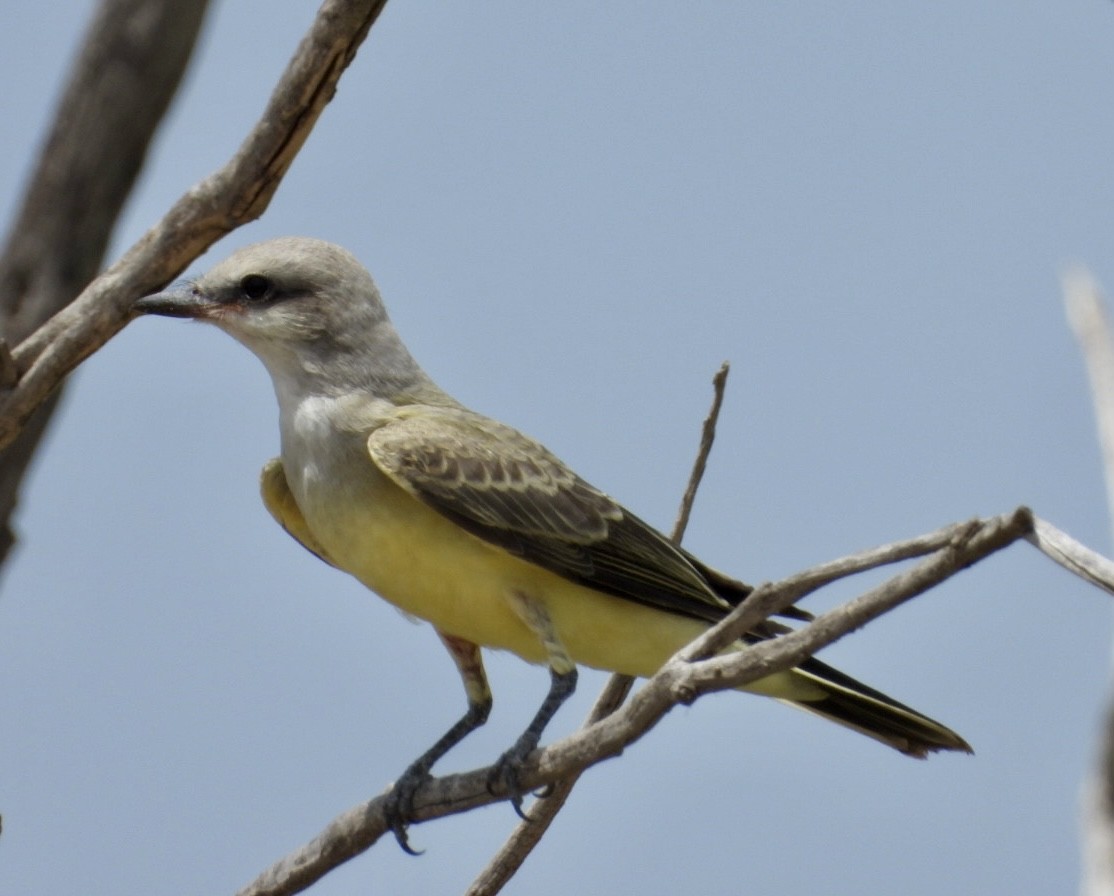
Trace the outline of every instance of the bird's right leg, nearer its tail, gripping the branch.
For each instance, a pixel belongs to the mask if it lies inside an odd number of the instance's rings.
[[[549,720],[554,718],[561,704],[568,700],[576,690],[576,663],[568,655],[565,645],[557,637],[553,621],[538,601],[516,593],[512,604],[515,611],[530,630],[540,639],[549,659],[549,692],[541,701],[541,707],[535,713],[534,719],[526,727],[526,730],[515,741],[515,746],[499,757],[495,763],[491,776],[488,778],[488,790],[495,792],[501,788],[510,797],[510,804],[515,807],[520,818],[526,818],[522,814],[522,788],[518,782],[522,763],[538,746],[541,733],[545,731]]]

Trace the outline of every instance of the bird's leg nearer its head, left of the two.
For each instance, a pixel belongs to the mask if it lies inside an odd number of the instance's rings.
[[[387,826],[394,832],[394,839],[403,851],[411,856],[420,855],[420,850],[410,846],[407,836],[407,826],[413,815],[414,793],[429,779],[429,770],[433,763],[483,724],[491,712],[491,689],[483,672],[483,659],[479,646],[444,632],[438,632],[438,635],[449,649],[449,654],[460,671],[460,678],[465,682],[465,693],[468,695],[468,710],[437,743],[410,763],[387,797],[387,806],[383,809]]]

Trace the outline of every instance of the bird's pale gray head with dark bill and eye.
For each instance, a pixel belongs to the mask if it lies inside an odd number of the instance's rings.
[[[135,309],[216,324],[258,356],[276,387],[389,395],[428,383],[371,274],[322,240],[286,236],[246,246]]]

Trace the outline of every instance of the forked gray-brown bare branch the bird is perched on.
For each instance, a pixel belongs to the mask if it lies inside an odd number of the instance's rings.
[[[618,756],[677,703],[690,703],[703,693],[735,688],[800,663],[837,639],[861,627],[899,604],[1026,537],[1034,528],[1027,508],[986,520],[949,526],[918,539],[864,552],[825,564],[754,591],[722,623],[671,659],[626,705],[595,724],[539,750],[522,769],[521,785],[543,787]],[[941,538],[941,536],[945,536]],[[931,545],[931,546],[930,546]],[[792,604],[821,581],[849,575],[896,559],[927,554],[925,559],[890,581],[871,588],[795,632],[764,641],[745,651],[707,660],[719,639],[730,639],[766,614]],[[730,643],[730,642],[727,642]],[[489,769],[433,778],[414,798],[414,820],[424,821],[467,811],[506,798],[487,789]],[[240,896],[289,896],[310,886],[346,859],[374,844],[384,832],[385,795],[375,797],[336,818],[312,843],[291,854],[241,890]]]

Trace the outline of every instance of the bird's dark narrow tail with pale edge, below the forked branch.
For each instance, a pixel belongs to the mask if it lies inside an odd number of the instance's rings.
[[[817,659],[793,670],[808,679],[818,697],[786,699],[786,703],[831,719],[907,756],[924,759],[937,750],[970,753],[970,744],[947,725],[899,703]]]

